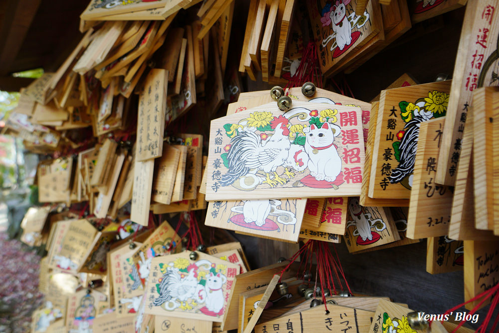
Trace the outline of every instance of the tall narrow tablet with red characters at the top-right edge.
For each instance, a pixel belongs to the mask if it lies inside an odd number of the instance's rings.
[[[499,33],[497,1],[476,1],[466,7],[459,51],[452,75],[453,84],[442,136],[442,149],[437,165],[436,182],[454,186],[463,139],[463,127],[468,107],[472,105],[473,90],[496,85],[493,78],[498,60],[497,36]]]

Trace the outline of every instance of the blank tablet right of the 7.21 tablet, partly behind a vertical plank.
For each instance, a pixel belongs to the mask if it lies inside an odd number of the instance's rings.
[[[459,240],[490,240],[492,231],[475,228],[475,200],[473,199],[475,173],[471,160],[473,149],[473,117],[466,122],[463,146],[456,174],[456,186],[452,200],[449,238]]]

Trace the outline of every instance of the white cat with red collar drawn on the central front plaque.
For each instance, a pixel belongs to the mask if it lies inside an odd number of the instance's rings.
[[[310,159],[310,175],[316,180],[334,182],[341,172],[341,159],[334,146],[334,137],[340,134],[340,127],[325,122],[320,128],[312,124],[303,132],[306,133],[305,152]]]

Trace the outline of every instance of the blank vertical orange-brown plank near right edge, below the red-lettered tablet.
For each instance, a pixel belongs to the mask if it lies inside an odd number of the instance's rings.
[[[494,140],[483,140],[493,137],[493,108],[497,87],[484,87],[473,91],[473,170],[475,227],[479,230],[494,230]],[[479,134],[480,133],[480,134]],[[482,140],[479,140],[482,138]],[[463,149],[461,147],[461,154]]]

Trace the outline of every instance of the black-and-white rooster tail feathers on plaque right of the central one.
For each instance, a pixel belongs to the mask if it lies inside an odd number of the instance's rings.
[[[401,182],[405,177],[414,172],[414,162],[416,161],[416,151],[418,149],[419,127],[425,119],[421,116],[415,116],[404,126],[404,136],[400,141],[400,161],[399,165],[392,170],[388,177],[390,183]],[[409,182],[412,186],[412,179]]]

